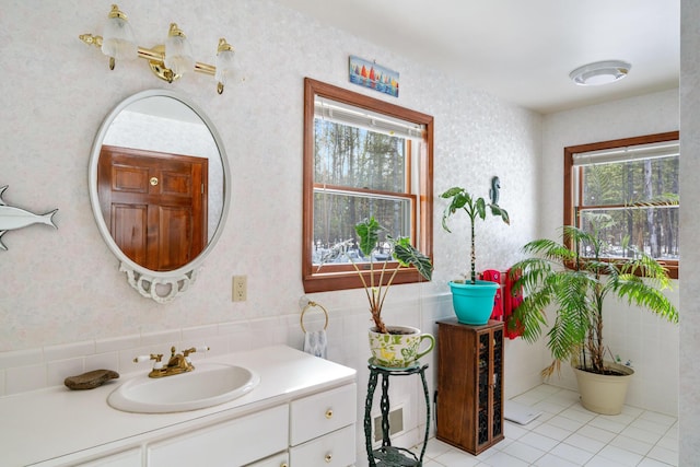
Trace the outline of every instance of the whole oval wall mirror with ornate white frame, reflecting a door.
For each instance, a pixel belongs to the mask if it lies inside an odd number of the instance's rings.
[[[131,287],[161,303],[185,292],[229,211],[229,164],[205,113],[171,91],[126,98],[95,137],[89,185],[100,233]]]

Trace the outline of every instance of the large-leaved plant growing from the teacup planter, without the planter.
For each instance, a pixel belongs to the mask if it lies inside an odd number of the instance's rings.
[[[386,232],[386,229],[380,225],[374,217],[359,222],[354,226],[354,231],[360,240],[358,243],[360,252],[362,252],[364,257],[370,259],[369,280],[366,269],[360,269],[357,261],[352,258],[352,255],[348,255],[348,250],[355,243],[354,240],[347,240],[334,245],[330,252],[324,255],[322,266],[324,262],[328,262],[341,255],[347,256],[362,281],[362,287],[370,303],[372,320],[377,331],[388,334],[386,325],[382,319],[382,307],[399,269],[413,266],[423,278],[431,280],[433,265],[428,256],[411,245],[409,237],[394,238],[388,234],[384,235],[382,243],[388,244],[390,255],[386,255],[383,260],[376,261],[375,253],[380,249],[380,236],[382,232]],[[398,261],[396,268],[387,268],[390,258]]]

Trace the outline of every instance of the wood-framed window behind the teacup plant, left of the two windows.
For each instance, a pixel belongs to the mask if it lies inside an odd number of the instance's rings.
[[[306,78],[302,278],[305,292],[362,287],[347,255],[323,257],[374,217],[432,259],[433,117]],[[388,253],[388,252],[386,252]],[[381,244],[374,260],[383,260]],[[389,262],[389,269],[398,267]],[[424,280],[401,268],[394,283]]]

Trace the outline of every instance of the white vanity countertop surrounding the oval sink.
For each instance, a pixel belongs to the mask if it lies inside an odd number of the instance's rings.
[[[285,346],[198,361],[245,366],[260,376],[260,384],[230,402],[177,413],[129,413],[107,405],[107,396],[119,384],[140,373],[124,375],[90,390],[56,386],[0,397],[0,464],[25,466],[115,441],[116,447],[126,446],[154,430],[165,429],[163,433],[168,434],[183,428],[195,429],[219,418],[261,410],[352,383],[357,373]]]

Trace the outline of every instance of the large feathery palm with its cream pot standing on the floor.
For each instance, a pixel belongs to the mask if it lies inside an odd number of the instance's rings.
[[[565,225],[562,243],[535,240],[523,247],[534,255],[515,264],[511,273],[524,300],[515,310],[523,325],[523,338],[534,342],[547,331],[552,363],[542,370],[549,377],[561,362],[571,362],[581,404],[588,410],[620,413],[632,369],[605,361],[603,315],[606,299],[616,296],[646,308],[672,323],[678,311],[662,292],[670,287],[666,269],[654,258],[623,242],[632,257],[611,258],[603,232],[614,225],[608,214],[590,214],[591,229]],[[553,316],[547,319],[547,308]]]

